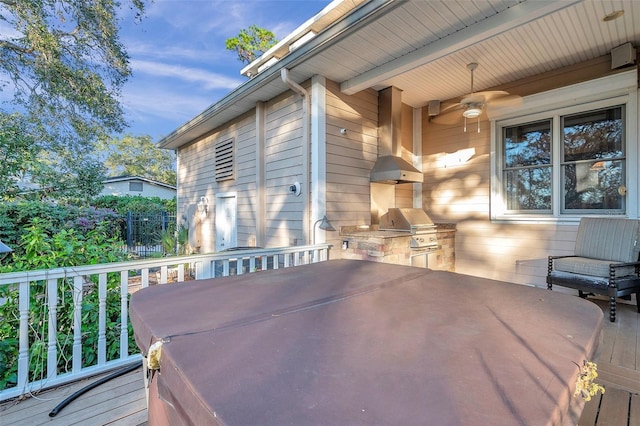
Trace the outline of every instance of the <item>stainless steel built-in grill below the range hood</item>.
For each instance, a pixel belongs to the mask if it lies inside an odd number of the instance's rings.
[[[422,209],[390,208],[380,217],[381,231],[404,231],[411,234],[411,248],[436,248],[436,225]]]

